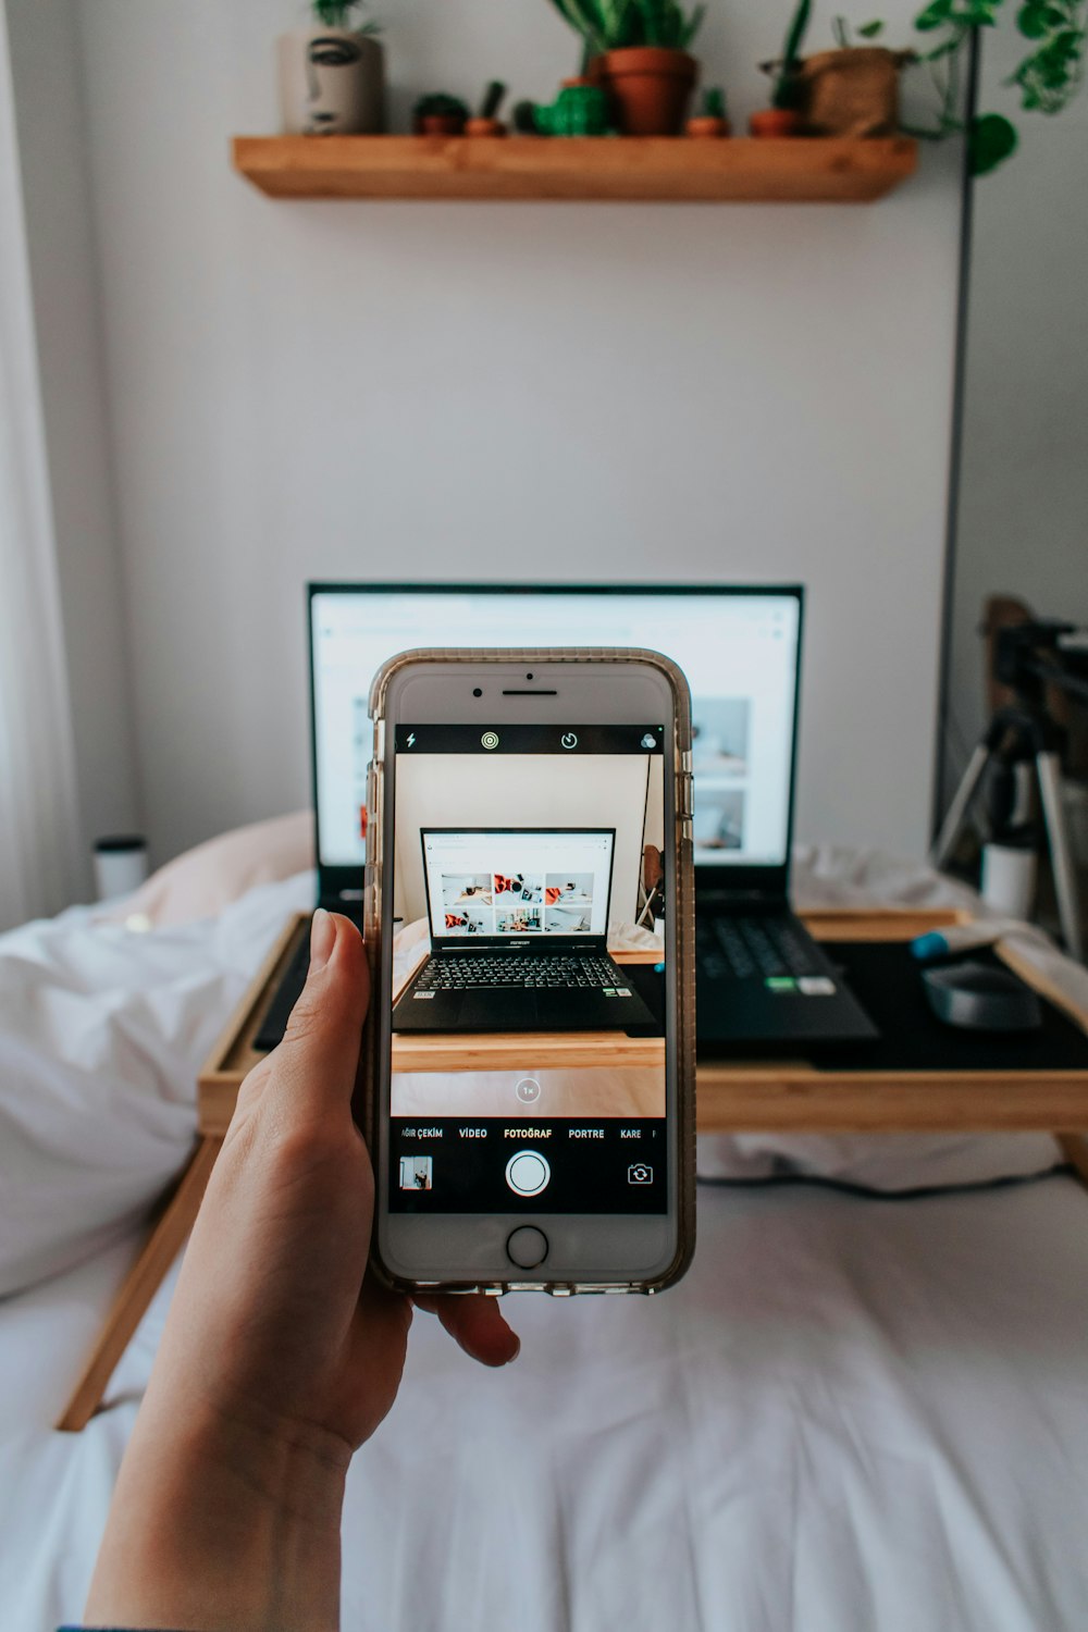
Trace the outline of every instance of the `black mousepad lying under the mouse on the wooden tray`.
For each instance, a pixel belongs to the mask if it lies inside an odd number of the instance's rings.
[[[824,942],[822,950],[881,1036],[819,1049],[806,1044],[804,1058],[819,1071],[1088,1071],[1088,1036],[1042,996],[1042,1025],[1034,1031],[969,1031],[936,1018],[922,986],[923,965],[910,956],[909,942]],[[967,960],[1008,969],[990,948],[940,963]]]

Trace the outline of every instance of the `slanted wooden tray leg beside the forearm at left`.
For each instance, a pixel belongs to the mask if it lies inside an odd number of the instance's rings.
[[[222,1142],[214,1138],[201,1139],[178,1188],[124,1278],[80,1381],[57,1421],[57,1428],[64,1433],[86,1428],[98,1410],[117,1361],[192,1229]]]

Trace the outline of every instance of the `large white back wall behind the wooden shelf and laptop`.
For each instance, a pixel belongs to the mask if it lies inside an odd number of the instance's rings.
[[[711,10],[742,121],[781,18]],[[380,13],[401,113],[576,57],[545,0]],[[803,579],[799,834],[920,850],[956,153],[873,207],[272,202],[227,144],[295,18],[80,7],[158,855],[307,800],[308,576]]]

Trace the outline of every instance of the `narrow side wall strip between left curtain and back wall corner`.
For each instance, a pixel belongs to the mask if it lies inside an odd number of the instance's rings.
[[[82,54],[72,0],[7,0],[85,875],[139,824]]]

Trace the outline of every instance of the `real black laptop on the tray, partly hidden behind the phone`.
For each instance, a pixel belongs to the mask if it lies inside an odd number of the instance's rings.
[[[692,689],[700,1051],[876,1038],[789,909],[799,586],[313,583],[307,610],[320,906],[356,922],[362,912],[367,697],[387,658],[445,645],[652,646]],[[303,938],[254,1046],[282,1036],[307,955]]]

